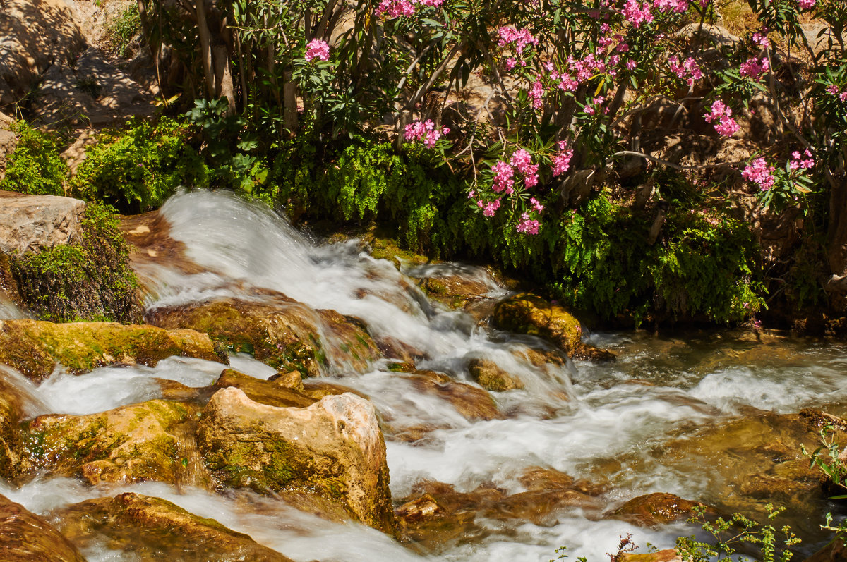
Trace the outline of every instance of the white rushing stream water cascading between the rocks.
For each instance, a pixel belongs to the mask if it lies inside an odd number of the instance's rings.
[[[418,361],[418,369],[469,382],[468,361],[484,358],[521,378],[523,389],[493,393],[503,419],[471,422],[439,395],[418,392],[410,375],[390,372],[387,361],[365,373],[331,364],[325,375],[367,394],[385,422],[395,499],[409,497],[424,480],[451,484],[458,492],[496,487],[520,493],[525,489],[521,476],[540,466],[595,483],[603,490],[605,508],[562,508],[539,524],[479,516],[473,538],[435,554],[413,552],[367,527],[324,521],[273,499],[178,492],[161,483],[91,488],[65,478],[41,478],[15,490],[0,488],[30,510],[45,513],[131,490],[169,499],[298,561],[546,561],[562,545],[572,559],[601,560],[627,532],[637,543],[659,548],[693,532],[684,523],[644,529],[603,515],[641,494],[675,493],[724,509],[761,512],[767,498],[750,493],[750,482],[743,481],[772,468],[756,466],[762,459],[773,464],[780,462],[774,455],[785,454],[773,453],[768,444],[752,453],[740,449],[762,435],[767,440],[763,432],[784,433],[782,418],[768,412],[826,405],[841,414],[847,405],[847,348],[841,344],[741,332],[678,337],[599,333],[590,342],[613,350],[617,362],[534,366],[520,352],[527,345],[543,348],[543,342],[482,328],[466,312],[430,302],[415,284],[415,278],[460,273],[483,281],[491,298],[507,295],[482,269],[441,264],[399,273],[389,262],[360,251],[356,240],[318,244],[266,208],[219,193],[174,196],[161,214],[169,235],[200,267],[141,265],[148,309],[221,296],[260,300],[262,291],[255,289],[273,289],[315,309],[361,318],[374,337],[391,337],[419,350],[426,359]],[[0,315],[15,314],[19,311],[0,302]],[[246,355],[233,356],[231,363],[253,377],[274,374]],[[0,375],[30,397],[28,413],[35,416],[93,413],[152,399],[160,392],[157,378],[207,386],[223,368],[176,357],[155,368],[113,366],[79,377],[58,368],[37,388],[16,372]],[[397,437],[412,427],[427,428],[424,438]],[[816,493],[794,496],[803,511],[789,521],[800,527],[807,538],[804,552],[811,553],[823,539],[816,532],[817,518],[833,506]],[[106,546],[86,555],[134,559]]]

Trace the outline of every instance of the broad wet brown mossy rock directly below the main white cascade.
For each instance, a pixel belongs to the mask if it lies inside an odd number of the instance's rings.
[[[190,328],[208,333],[230,350],[252,353],[275,368],[320,375],[327,363],[364,371],[379,356],[368,333],[334,311],[313,311],[285,297],[263,302],[219,299],[147,313],[162,328]],[[324,346],[321,334],[329,340]]]

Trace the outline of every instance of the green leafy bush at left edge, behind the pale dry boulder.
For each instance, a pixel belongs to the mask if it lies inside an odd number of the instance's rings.
[[[12,131],[18,136],[18,144],[8,157],[0,190],[32,195],[64,195],[68,166],[59,156],[58,138],[24,121],[14,123]]]

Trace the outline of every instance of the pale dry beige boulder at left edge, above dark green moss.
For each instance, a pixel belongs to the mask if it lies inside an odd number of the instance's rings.
[[[85,201],[57,196],[26,196],[0,191],[0,251],[39,251],[82,242]]]

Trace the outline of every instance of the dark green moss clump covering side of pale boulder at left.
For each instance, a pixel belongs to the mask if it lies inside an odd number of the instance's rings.
[[[86,205],[83,240],[11,256],[19,293],[36,316],[52,322],[135,322],[140,315],[136,275],[114,209]]]

